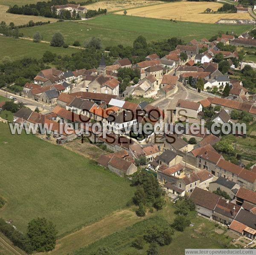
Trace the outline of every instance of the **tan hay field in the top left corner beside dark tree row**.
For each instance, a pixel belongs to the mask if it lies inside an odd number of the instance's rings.
[[[33,20],[34,22],[37,21],[56,21],[56,19],[52,18],[45,18],[41,16],[29,16],[29,15],[19,15],[19,14],[12,14],[7,13],[6,11],[9,9],[8,6],[0,5],[0,22],[5,21],[6,24],[10,22],[14,22],[15,25],[23,25],[29,22],[29,20]]]

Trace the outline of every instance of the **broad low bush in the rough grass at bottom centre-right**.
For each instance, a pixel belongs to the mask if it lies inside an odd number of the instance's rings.
[[[153,225],[145,230],[144,239],[148,243],[157,243],[164,246],[172,242],[173,234],[174,230],[169,226]]]

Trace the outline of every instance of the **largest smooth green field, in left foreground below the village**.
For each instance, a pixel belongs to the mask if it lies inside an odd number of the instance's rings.
[[[0,217],[21,231],[35,217],[52,220],[58,235],[125,206],[134,189],[123,178],[34,135],[11,135],[0,123]]]

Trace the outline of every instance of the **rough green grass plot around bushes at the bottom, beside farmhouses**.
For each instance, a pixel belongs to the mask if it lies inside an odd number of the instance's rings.
[[[110,247],[120,255],[126,254],[146,254],[148,244],[140,251],[131,247],[132,241],[143,235],[148,226],[157,224],[158,226],[166,226],[172,223],[175,215],[175,208],[172,203],[168,202],[163,210],[154,212],[150,218],[128,226],[126,229],[115,232],[105,238],[102,238],[89,246],[79,249],[75,255],[90,254],[100,246]],[[207,219],[196,217],[194,213],[189,216],[191,222],[195,224],[193,227],[187,227],[184,232],[175,232],[172,243],[167,246],[159,247],[159,254],[161,255],[181,255],[184,254],[184,249],[224,249],[224,245],[229,243],[232,239],[226,238],[224,234],[217,234],[213,222]],[[223,232],[226,232],[224,230]],[[203,236],[201,233],[205,233]]]

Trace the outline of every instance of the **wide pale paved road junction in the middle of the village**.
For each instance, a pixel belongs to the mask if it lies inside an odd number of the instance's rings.
[[[178,82],[177,92],[171,97],[165,98],[164,100],[158,102],[157,106],[160,109],[164,109],[166,111],[167,109],[169,110],[175,109],[177,101],[179,99],[184,99],[184,100],[187,99],[187,100],[198,102],[205,98],[207,98],[207,95],[203,95],[201,93],[189,90],[185,86],[183,86],[180,82]]]

